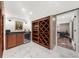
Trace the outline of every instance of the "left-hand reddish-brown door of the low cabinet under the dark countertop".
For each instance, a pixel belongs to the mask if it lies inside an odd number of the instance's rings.
[[[9,34],[7,36],[7,48],[12,48],[16,46],[16,35],[15,34]]]

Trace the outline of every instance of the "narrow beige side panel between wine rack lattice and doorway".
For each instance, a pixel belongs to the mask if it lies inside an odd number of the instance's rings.
[[[50,17],[50,45],[51,49],[56,46],[56,19],[55,17]]]

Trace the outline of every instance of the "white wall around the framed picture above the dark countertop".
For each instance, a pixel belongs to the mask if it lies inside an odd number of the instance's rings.
[[[9,21],[11,20],[11,21]],[[23,22],[23,29],[22,30],[15,30],[15,21],[21,21]],[[22,19],[18,19],[18,18],[6,18],[5,19],[5,30],[11,30],[11,32],[16,32],[16,31],[24,31],[25,29],[28,31],[29,27],[28,24],[26,22],[24,22]]]

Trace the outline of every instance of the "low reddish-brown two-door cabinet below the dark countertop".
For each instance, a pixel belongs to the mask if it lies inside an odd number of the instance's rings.
[[[24,42],[23,32],[10,32],[6,35],[6,49],[18,46]]]

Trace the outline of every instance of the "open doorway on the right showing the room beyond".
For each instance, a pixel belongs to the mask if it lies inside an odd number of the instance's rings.
[[[75,43],[73,39],[74,21],[72,19],[72,16],[72,13],[67,13],[56,17],[56,37],[57,46],[75,50]]]

